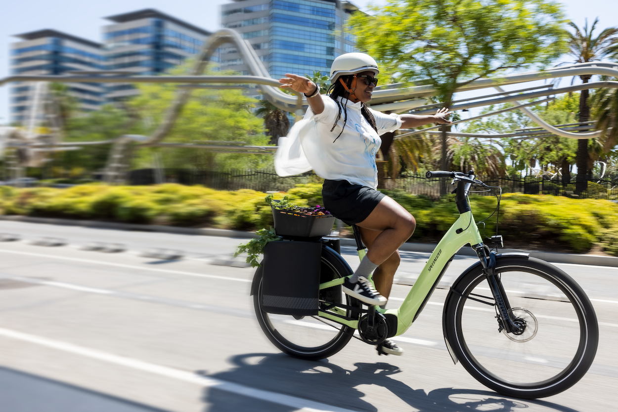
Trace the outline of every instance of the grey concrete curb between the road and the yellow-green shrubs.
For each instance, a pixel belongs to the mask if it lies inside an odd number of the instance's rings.
[[[99,222],[99,221],[77,221],[71,219],[56,219],[48,217],[30,217],[30,216],[0,216],[0,221],[14,221],[14,222],[30,222],[30,223],[44,223],[51,225],[64,225],[64,226],[82,226],[93,227],[103,229],[119,229],[119,230],[140,230],[143,232],[163,232],[163,233],[177,233],[181,235],[201,235],[201,236],[219,236],[219,237],[231,237],[231,238],[243,238],[250,239],[257,237],[255,232],[244,232],[242,230],[226,230],[226,229],[197,229],[193,227],[177,227],[177,226],[163,226],[163,225],[138,225],[119,222]],[[356,246],[356,242],[353,239],[341,238],[342,246]],[[408,252],[419,253],[431,253],[436,247],[433,243],[404,243],[399,250]],[[574,254],[574,253],[555,253],[555,252],[543,252],[536,250],[516,250],[516,249],[502,249],[501,253],[507,252],[525,252],[530,254],[531,257],[537,259],[543,259],[551,263],[572,263],[572,264],[585,264],[593,266],[609,266],[618,267],[618,258],[614,256],[600,256],[595,254]],[[473,250],[470,248],[462,248],[457,253],[457,256],[476,256]]]

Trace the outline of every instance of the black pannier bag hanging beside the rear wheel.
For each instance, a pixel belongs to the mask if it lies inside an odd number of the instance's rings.
[[[321,253],[320,242],[282,240],[266,245],[260,296],[265,312],[318,314]]]

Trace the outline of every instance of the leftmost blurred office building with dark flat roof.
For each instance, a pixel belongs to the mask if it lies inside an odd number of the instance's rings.
[[[73,71],[104,69],[101,44],[57,30],[38,30],[15,35],[11,44],[14,75],[61,75]],[[10,91],[11,122],[23,124],[31,116],[35,83],[14,82]],[[96,83],[66,83],[80,109],[96,110],[104,102],[104,90]]]

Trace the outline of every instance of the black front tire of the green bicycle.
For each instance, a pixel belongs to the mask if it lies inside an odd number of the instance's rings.
[[[455,356],[462,363],[462,366],[481,384],[495,390],[502,395],[517,398],[543,398],[557,393],[576,384],[590,368],[598,347],[599,329],[595,310],[586,293],[582,288],[565,272],[557,267],[546,263],[540,259],[529,258],[528,256],[499,256],[496,259],[496,273],[506,269],[526,268],[530,273],[541,275],[545,279],[556,280],[557,287],[567,295],[574,305],[575,311],[585,322],[580,322],[580,343],[577,353],[567,368],[563,369],[552,379],[543,382],[533,382],[536,385],[520,385],[507,382],[491,374],[482,364],[476,360],[467,348],[463,337],[461,316],[463,311],[462,303],[466,300],[464,296],[470,293],[473,287],[478,285],[485,275],[480,265],[471,268],[458,279],[454,284],[454,292],[451,291],[447,296],[444,308],[445,334],[449,345],[454,351]],[[482,279],[481,279],[482,278]],[[550,280],[551,281],[551,280]],[[575,302],[574,302],[575,300]]]

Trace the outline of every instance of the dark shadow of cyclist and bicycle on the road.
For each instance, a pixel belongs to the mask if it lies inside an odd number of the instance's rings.
[[[345,410],[388,411],[388,405],[373,405],[363,400],[365,393],[357,389],[360,385],[376,385],[423,412],[519,412],[533,405],[536,406],[534,410],[540,408],[548,412],[579,412],[549,401],[507,398],[485,390],[441,388],[426,393],[423,389],[414,389],[398,380],[397,374],[402,370],[386,362],[356,363],[355,369],[349,371],[328,359],[303,361],[284,354],[248,353],[232,356],[229,361],[234,364],[233,369],[208,376]],[[209,412],[298,410],[277,403],[275,396],[273,402],[269,402],[216,388],[206,389],[203,400],[206,403],[205,410]]]

